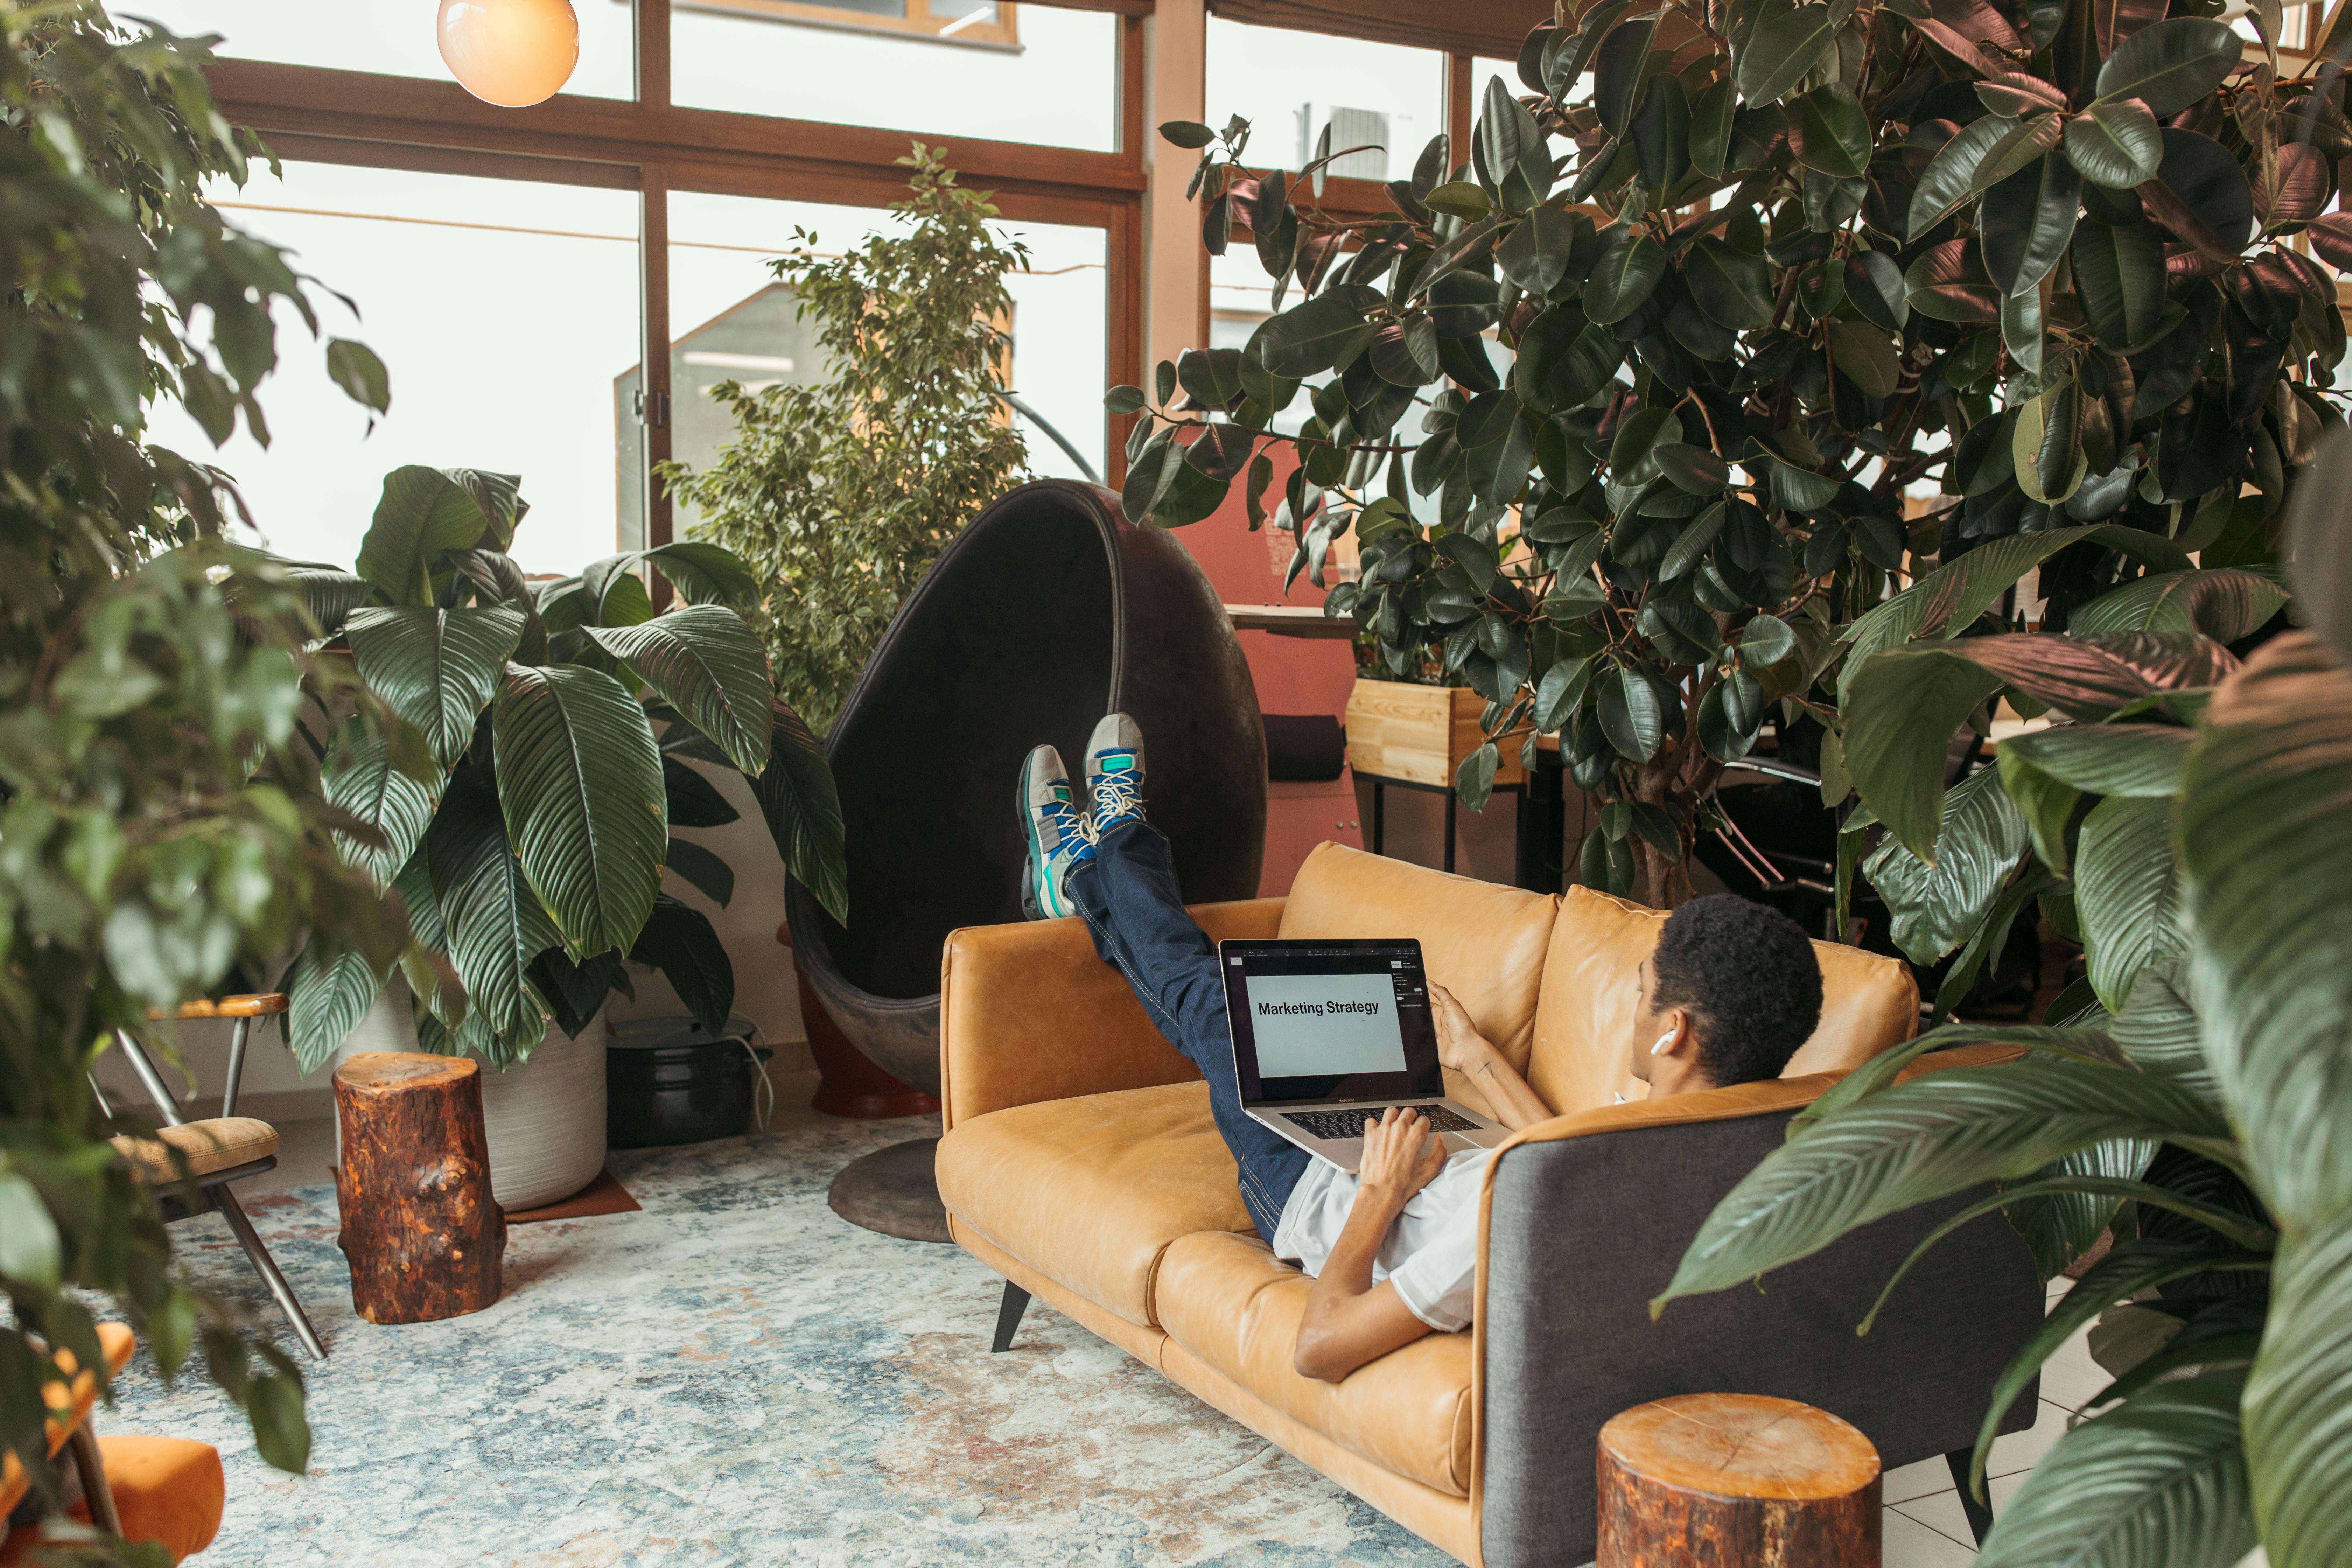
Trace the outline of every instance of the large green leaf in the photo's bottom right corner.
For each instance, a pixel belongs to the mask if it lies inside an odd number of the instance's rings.
[[[2336,1568],[2352,1495],[2352,1208],[2279,1248],[2244,1420],[2272,1566]]]

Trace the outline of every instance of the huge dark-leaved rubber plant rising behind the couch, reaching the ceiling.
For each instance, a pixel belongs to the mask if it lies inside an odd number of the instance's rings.
[[[1959,632],[2034,567],[2063,623],[2270,557],[2345,350],[2291,240],[2352,259],[2321,216],[2352,127],[2218,0],[2171,12],[1599,0],[1526,35],[1468,148],[1348,214],[1324,172],[1352,148],[1287,174],[1242,120],[1169,122],[1207,247],[1247,235],[1275,315],[1110,393],[1141,416],[1127,515],[1240,487],[1317,583],[1352,531],[1327,609],[1489,698],[1461,797],[1494,736],[1557,731],[1616,806],[1583,879],[1677,903],[1773,708],[1828,726],[1844,795],[1832,691],[1891,590],[1940,569],[1910,614]],[[2277,40],[2277,2],[2253,16]]]

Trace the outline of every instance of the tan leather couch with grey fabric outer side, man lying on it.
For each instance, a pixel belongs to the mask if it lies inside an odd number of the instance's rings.
[[[946,943],[938,1192],[955,1239],[1007,1279],[1007,1321],[1021,1293],[1042,1295],[1465,1563],[1590,1561],[1595,1434],[1642,1399],[1710,1387],[1811,1399],[1870,1432],[1889,1467],[1973,1441],[1992,1378],[2042,1307],[1997,1215],[1905,1281],[1875,1345],[1853,1324],[1957,1204],[1884,1220],[1773,1274],[1764,1298],[1677,1302],[1658,1324],[1644,1309],[1715,1199],[1835,1081],[1825,1074],[1912,1034],[1919,997],[1903,964],[1816,945],[1823,1018],[1790,1077],[1649,1105],[1628,1046],[1656,910],[1324,844],[1289,900],[1192,914],[1211,938],[1418,938],[1430,978],[1562,1112],[1489,1166],[1477,1324],[1338,1385],[1291,1371],[1308,1279],[1251,1227],[1200,1072],[1077,919]],[[1468,1084],[1449,1088],[1477,1103]],[[1630,1103],[1613,1105],[1618,1093]],[[1938,1331],[1922,1382],[1896,1342],[1955,1307],[1976,1328]]]

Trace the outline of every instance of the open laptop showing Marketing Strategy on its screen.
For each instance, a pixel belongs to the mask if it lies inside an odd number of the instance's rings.
[[[1501,1121],[1446,1098],[1416,938],[1216,945],[1242,1110],[1341,1171],[1364,1161],[1364,1121],[1418,1110],[1446,1152],[1491,1150]]]

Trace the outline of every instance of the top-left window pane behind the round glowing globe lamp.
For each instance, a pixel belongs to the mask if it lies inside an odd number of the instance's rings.
[[[287,66],[334,66],[381,75],[449,80],[433,35],[433,0],[139,0],[115,9],[118,21],[153,16],[181,35],[219,33],[214,52]],[[628,0],[574,0],[581,21],[581,63],[567,94],[630,99],[637,45]]]

